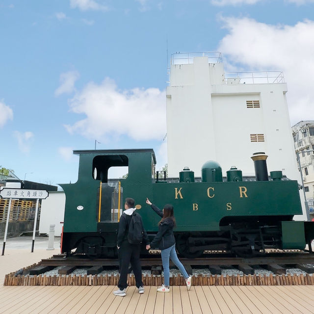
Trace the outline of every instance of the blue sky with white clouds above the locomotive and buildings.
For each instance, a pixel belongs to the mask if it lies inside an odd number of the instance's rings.
[[[72,150],[97,139],[154,148],[161,168],[167,44],[168,62],[220,51],[225,71],[283,71],[291,125],[314,119],[314,0],[0,0],[0,165],[73,183]]]

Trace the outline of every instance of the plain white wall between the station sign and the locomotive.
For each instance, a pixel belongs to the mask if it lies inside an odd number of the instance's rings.
[[[49,197],[42,200],[39,233],[49,234],[49,226],[55,225],[55,236],[60,236],[64,219],[65,194],[63,191],[51,191]]]

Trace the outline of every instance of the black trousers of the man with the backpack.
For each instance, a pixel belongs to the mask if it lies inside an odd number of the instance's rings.
[[[141,261],[139,259],[140,249],[140,244],[130,244],[127,241],[124,241],[121,244],[119,249],[120,280],[118,283],[118,288],[120,288],[120,290],[128,287],[127,278],[130,262],[135,277],[136,287],[139,288],[143,286]]]

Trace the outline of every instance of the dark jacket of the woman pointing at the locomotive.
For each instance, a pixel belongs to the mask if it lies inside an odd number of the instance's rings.
[[[151,208],[160,216],[163,216],[162,210],[158,209],[156,205],[152,204]],[[173,235],[174,221],[171,217],[165,218],[158,227],[158,233],[151,242],[151,248],[159,248],[164,250],[176,243]]]

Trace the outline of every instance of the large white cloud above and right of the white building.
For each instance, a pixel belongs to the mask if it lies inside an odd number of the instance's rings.
[[[281,70],[288,84],[292,124],[314,119],[314,21],[267,25],[248,18],[224,18],[229,30],[219,51],[228,61],[255,71]]]

